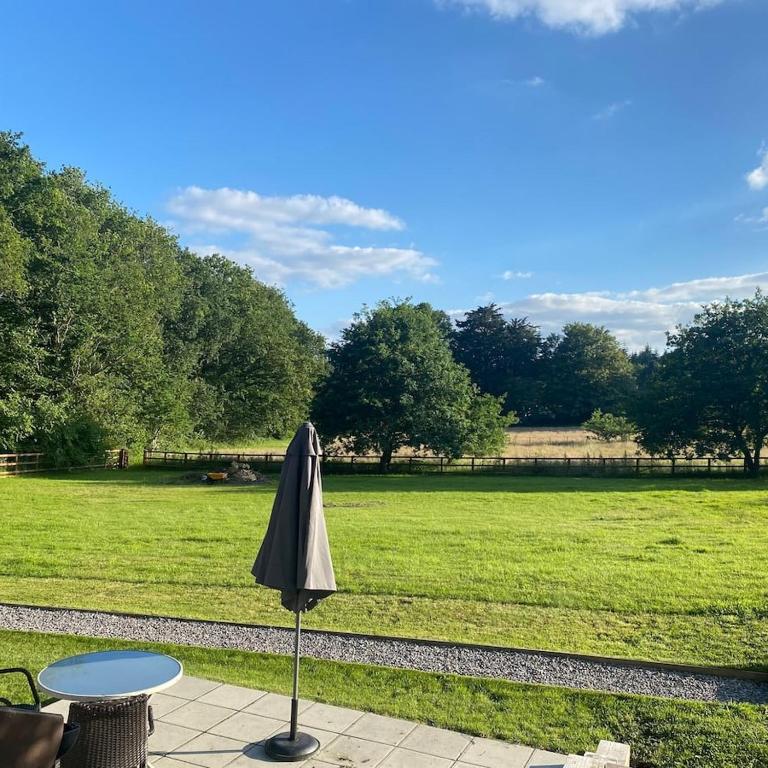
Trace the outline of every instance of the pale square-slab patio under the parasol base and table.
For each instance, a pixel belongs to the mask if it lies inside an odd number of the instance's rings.
[[[290,699],[185,677],[152,697],[154,768],[258,768],[264,741],[288,729]],[[66,716],[67,704],[46,707]],[[408,720],[302,701],[299,724],[320,751],[303,768],[563,768],[565,755]]]

